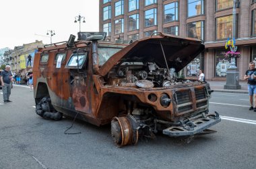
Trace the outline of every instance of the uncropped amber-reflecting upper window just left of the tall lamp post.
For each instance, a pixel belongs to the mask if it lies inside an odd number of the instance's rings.
[[[232,15],[216,18],[216,40],[232,37]]]

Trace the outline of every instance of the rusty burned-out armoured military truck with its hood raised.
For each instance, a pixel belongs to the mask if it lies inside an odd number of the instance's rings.
[[[162,33],[131,44],[102,39],[75,41],[71,35],[38,50],[33,67],[38,115],[55,120],[77,115],[97,126],[111,124],[118,146],[155,133],[214,133],[208,128],[221,119],[209,111],[209,83],[177,77],[204,50],[201,41]]]

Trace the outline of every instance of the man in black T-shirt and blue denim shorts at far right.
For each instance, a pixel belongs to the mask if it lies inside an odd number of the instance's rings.
[[[251,104],[249,110],[254,110],[256,112],[256,69],[254,62],[249,63],[249,69],[245,72],[244,79],[247,80],[248,84],[248,92]]]

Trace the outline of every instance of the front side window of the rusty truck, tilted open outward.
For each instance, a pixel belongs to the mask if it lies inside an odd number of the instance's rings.
[[[65,68],[67,69],[82,69],[84,66],[84,63],[86,62],[87,59],[87,52],[86,53],[73,53],[71,57],[69,58],[69,61],[67,61],[67,64]]]

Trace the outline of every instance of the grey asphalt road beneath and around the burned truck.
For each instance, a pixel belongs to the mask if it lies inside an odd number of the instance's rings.
[[[248,110],[246,94],[213,94],[210,110],[223,117],[211,127],[217,133],[189,144],[157,135],[122,148],[109,125],[75,121],[69,132],[81,134],[65,135],[73,119],[40,118],[26,86],[14,86],[11,100],[0,105],[0,168],[256,168],[256,112]]]

